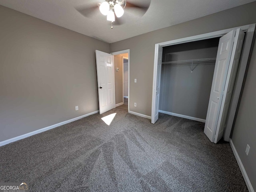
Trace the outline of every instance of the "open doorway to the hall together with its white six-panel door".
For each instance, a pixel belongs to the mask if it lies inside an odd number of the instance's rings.
[[[126,59],[126,61],[128,60],[128,97],[130,96],[130,49],[114,52],[111,54],[99,50],[96,50],[95,52],[98,81],[99,112],[100,114],[103,114],[104,112],[115,108],[116,103],[117,106],[124,104],[123,63],[127,62],[123,62],[123,57],[124,59]],[[121,58],[119,62],[120,67],[118,66],[117,61],[115,66],[115,55],[119,55]],[[119,73],[115,74],[115,72]],[[115,86],[117,91],[115,90]],[[117,102],[116,96],[118,96]],[[126,111],[128,112],[130,112],[129,103],[130,102],[128,100],[128,106],[126,105]]]

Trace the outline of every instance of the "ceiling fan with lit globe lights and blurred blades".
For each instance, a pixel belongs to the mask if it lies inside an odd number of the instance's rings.
[[[104,2],[100,3],[98,2],[95,4],[95,6],[79,6],[76,7],[76,10],[80,12],[83,16],[87,18],[91,18],[94,16],[97,9],[99,8],[99,11],[104,15],[107,16],[107,20],[111,22],[111,29],[113,28],[112,24],[114,25],[122,25],[124,24],[128,19],[122,18],[124,14],[124,8],[129,12],[129,10],[133,10],[133,14],[143,16],[149,6],[151,0],[105,0]]]

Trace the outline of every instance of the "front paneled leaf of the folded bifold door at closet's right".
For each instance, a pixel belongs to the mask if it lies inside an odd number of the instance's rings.
[[[208,104],[206,123],[204,127],[204,133],[211,142],[213,142],[215,138],[218,116],[220,114],[220,106],[224,92],[225,81],[228,74],[228,65],[230,63],[234,37],[235,30],[232,30],[220,38],[218,46],[210,100]]]

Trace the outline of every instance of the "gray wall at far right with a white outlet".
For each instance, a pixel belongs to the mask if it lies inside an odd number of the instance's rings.
[[[256,43],[234,124],[232,141],[256,191]],[[250,146],[248,156],[246,145]]]

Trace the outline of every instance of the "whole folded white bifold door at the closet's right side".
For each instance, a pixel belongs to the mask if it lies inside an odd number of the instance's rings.
[[[220,38],[204,133],[217,143],[223,135],[236,73],[244,41],[244,32],[234,29]]]

